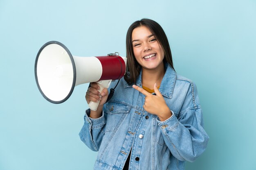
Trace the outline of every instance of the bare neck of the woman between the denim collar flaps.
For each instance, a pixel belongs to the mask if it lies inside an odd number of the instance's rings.
[[[164,73],[164,63],[156,69],[142,68],[142,85],[149,89],[154,89],[154,84],[157,83],[157,87],[159,87],[164,77]]]

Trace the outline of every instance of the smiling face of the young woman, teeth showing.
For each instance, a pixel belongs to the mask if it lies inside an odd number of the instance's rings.
[[[164,50],[146,26],[132,31],[132,48],[135,59],[143,69],[163,68]]]

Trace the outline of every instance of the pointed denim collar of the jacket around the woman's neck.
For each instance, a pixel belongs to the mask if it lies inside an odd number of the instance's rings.
[[[168,65],[168,63],[164,64],[164,67],[166,68],[165,74],[164,74],[164,78],[161,82],[160,88],[159,88],[159,92],[167,97],[167,98],[172,98],[172,94],[173,94],[173,87],[175,85],[175,81],[176,81],[176,72],[173,70],[173,68],[171,68],[170,65]],[[137,78],[136,81],[136,85],[141,87],[141,74],[142,74],[142,70],[140,70],[139,76]],[[129,85],[128,83],[125,83],[124,88],[126,87],[132,87],[132,85],[134,85],[135,83],[132,83],[131,85]]]

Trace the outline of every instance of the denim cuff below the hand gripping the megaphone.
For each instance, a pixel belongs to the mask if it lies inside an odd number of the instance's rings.
[[[92,128],[99,128],[99,127],[104,126],[104,124],[106,124],[106,120],[104,118],[104,111],[102,111],[102,116],[97,119],[89,117],[90,111],[91,111],[90,109],[87,109],[85,111],[84,120],[87,121],[90,124],[90,126],[92,126]]]

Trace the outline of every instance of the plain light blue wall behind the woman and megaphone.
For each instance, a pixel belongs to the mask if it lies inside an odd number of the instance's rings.
[[[157,21],[178,74],[198,87],[206,152],[186,170],[256,170],[255,0],[0,0],[0,170],[90,170],[97,153],[79,139],[88,84],[45,100],[36,54],[60,41],[76,56],[126,55],[126,31]]]

